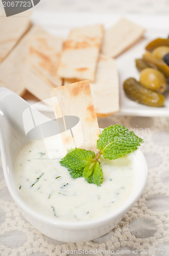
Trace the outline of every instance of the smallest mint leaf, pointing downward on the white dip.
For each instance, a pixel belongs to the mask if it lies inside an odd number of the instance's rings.
[[[89,182],[100,186],[103,182],[103,171],[99,161],[89,163],[83,170],[83,177]]]

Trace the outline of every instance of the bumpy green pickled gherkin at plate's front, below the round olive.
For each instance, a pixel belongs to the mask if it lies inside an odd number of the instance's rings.
[[[165,98],[162,94],[144,87],[134,78],[128,78],[123,84],[126,95],[141,104],[148,106],[163,106]]]

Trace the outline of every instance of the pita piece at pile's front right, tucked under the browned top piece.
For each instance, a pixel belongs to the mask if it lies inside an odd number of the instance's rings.
[[[65,79],[64,84],[75,82]],[[119,111],[119,77],[115,59],[103,54],[99,56],[95,82],[90,82],[93,103],[97,117],[104,117]]]

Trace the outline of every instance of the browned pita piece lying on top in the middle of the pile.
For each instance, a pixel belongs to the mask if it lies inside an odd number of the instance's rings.
[[[102,37],[101,25],[73,29],[64,42],[58,75],[94,81]]]

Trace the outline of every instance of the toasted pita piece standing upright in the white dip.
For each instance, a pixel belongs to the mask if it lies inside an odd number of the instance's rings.
[[[96,142],[100,132],[89,81],[76,82],[55,88],[51,90],[51,96],[57,98],[54,101],[54,109],[57,118],[61,117],[61,115],[79,117],[80,123],[72,128],[75,146],[96,151]],[[80,131],[82,131],[82,134],[80,134]],[[82,137],[83,140],[81,141]],[[64,136],[63,143],[69,144],[71,139],[72,136],[70,134],[69,136]]]

